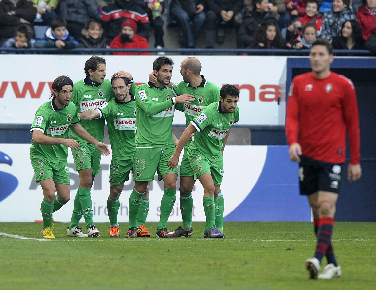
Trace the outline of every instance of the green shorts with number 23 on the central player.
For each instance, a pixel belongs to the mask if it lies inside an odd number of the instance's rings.
[[[174,154],[175,148],[136,148],[133,158],[133,180],[152,181],[155,171],[158,173],[158,181],[167,173],[179,174],[175,167],[173,170],[167,167],[167,161]]]

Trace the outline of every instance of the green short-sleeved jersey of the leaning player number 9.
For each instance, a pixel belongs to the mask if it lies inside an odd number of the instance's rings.
[[[238,120],[239,107],[236,107],[233,113],[223,113],[221,102],[208,105],[191,121],[197,132],[194,132],[188,147],[188,155],[202,154],[212,161],[221,158],[222,141]]]

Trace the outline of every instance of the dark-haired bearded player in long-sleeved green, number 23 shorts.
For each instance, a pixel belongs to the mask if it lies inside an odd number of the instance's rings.
[[[172,134],[174,106],[194,100],[191,95],[174,97],[172,90],[166,86],[170,83],[172,66],[171,59],[158,57],[153,63],[157,83],[149,82],[136,87],[136,151],[133,159],[135,187],[129,197],[127,236],[136,236],[136,218],[141,197],[157,171],[159,180],[163,179],[165,189],[156,237],[172,237],[167,231],[167,219],[175,202],[178,172],[177,168],[170,170],[166,163],[175,147]]]

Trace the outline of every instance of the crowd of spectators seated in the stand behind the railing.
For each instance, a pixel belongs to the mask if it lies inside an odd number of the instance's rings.
[[[376,53],[376,0],[0,0],[0,45],[149,48],[153,30],[150,47],[165,54],[164,13],[180,28],[180,48],[195,48],[201,33],[214,48],[226,28],[234,48],[307,49],[321,37],[334,49]]]

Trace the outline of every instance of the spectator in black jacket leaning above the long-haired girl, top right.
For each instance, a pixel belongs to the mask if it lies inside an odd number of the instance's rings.
[[[241,47],[249,47],[253,33],[263,21],[274,20],[277,23],[277,15],[269,12],[268,0],[253,0],[253,9],[246,12],[238,31],[238,44]]]

